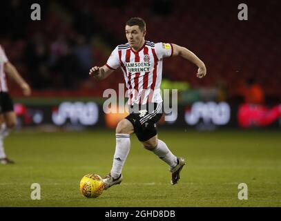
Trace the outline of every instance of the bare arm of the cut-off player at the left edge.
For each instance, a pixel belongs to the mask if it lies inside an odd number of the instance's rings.
[[[17,68],[15,68],[9,61],[4,64],[5,73],[19,84],[21,90],[23,90],[23,95],[29,96],[31,94],[30,86],[26,81],[19,75]]]

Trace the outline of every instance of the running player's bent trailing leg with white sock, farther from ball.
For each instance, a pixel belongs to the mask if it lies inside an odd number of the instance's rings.
[[[171,184],[177,184],[178,180],[180,180],[180,171],[182,171],[182,167],[185,165],[184,158],[173,155],[165,142],[159,140],[157,135],[142,142],[142,144],[144,148],[155,153],[155,155],[170,166]]]

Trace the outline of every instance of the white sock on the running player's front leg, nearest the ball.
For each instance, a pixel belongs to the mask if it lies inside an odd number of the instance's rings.
[[[113,157],[113,167],[110,171],[110,175],[113,178],[118,178],[119,175],[122,173],[122,168],[126,161],[129,151],[130,135],[126,133],[117,133],[115,154]]]

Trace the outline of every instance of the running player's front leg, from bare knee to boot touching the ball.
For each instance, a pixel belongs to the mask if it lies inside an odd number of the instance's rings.
[[[110,174],[104,177],[104,189],[122,182],[122,169],[130,151],[130,134],[133,132],[133,124],[128,119],[122,119],[117,124],[113,166]]]

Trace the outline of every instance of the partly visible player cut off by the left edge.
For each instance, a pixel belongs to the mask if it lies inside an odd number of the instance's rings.
[[[17,124],[14,104],[8,93],[6,75],[19,84],[23,90],[23,95],[30,95],[30,87],[19,75],[17,69],[8,61],[5,51],[0,46],[0,164],[13,164],[14,161],[6,156],[3,146],[3,139],[9,134],[10,129]]]

